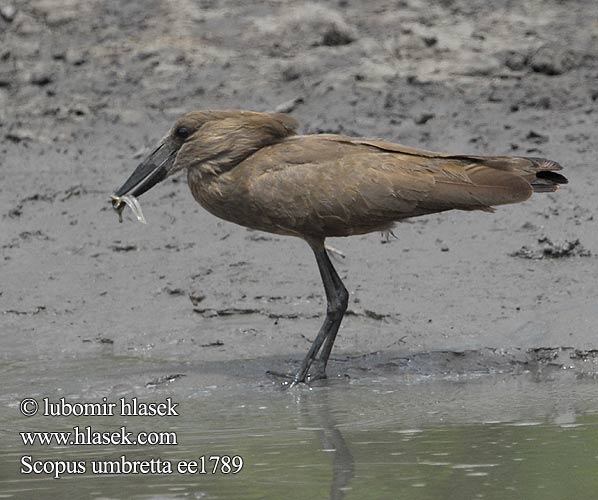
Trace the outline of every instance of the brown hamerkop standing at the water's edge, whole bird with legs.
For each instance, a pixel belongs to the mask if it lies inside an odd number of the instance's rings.
[[[120,212],[121,197],[130,201],[186,169],[193,197],[212,214],[308,243],[324,282],[326,319],[290,385],[326,376],[347,309],[326,237],[388,231],[445,210],[492,212],[567,183],[556,173],[561,166],[542,158],[434,153],[296,129],[293,118],[277,113],[187,113],[113,196]]]

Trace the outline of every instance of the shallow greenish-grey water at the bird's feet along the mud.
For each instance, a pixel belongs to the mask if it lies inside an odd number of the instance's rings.
[[[124,359],[103,362],[110,384],[102,386],[90,375],[101,369],[95,363],[0,367],[6,382],[0,398],[0,498],[546,500],[589,498],[598,489],[598,391],[592,377],[384,375],[283,392],[266,379],[252,385],[230,378],[198,388],[192,372],[148,386],[142,383],[144,363]],[[71,403],[170,397],[179,403],[179,416],[123,417],[118,406],[114,416],[24,417],[18,406],[23,388],[42,407],[44,397]],[[174,432],[178,444],[25,446],[19,434],[74,426]],[[129,463],[160,458],[173,468],[205,456],[206,474],[91,473],[92,461],[123,455]],[[86,471],[59,479],[53,473],[20,474],[23,456],[82,461]],[[210,456],[240,456],[243,466],[226,474],[220,465],[212,474]]]

